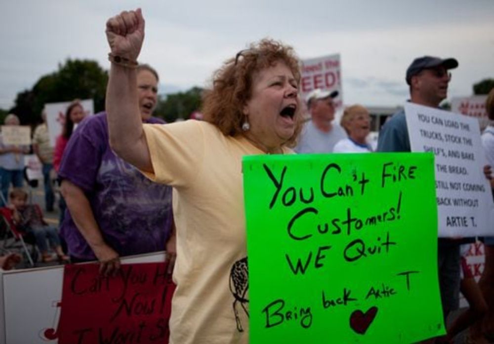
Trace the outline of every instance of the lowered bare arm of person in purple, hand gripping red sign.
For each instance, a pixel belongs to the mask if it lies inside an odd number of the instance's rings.
[[[100,273],[108,275],[118,270],[119,254],[104,241],[89,200],[82,189],[70,180],[64,179],[61,192],[74,223],[101,263]]]

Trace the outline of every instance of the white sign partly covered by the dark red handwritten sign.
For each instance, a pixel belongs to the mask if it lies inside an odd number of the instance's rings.
[[[164,260],[165,252],[154,252],[124,257],[122,263]],[[58,342],[63,272],[63,265],[0,272],[0,344]]]

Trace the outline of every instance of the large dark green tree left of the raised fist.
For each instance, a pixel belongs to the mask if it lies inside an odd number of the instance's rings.
[[[67,59],[56,72],[41,76],[32,90],[17,94],[10,112],[17,114],[22,124],[31,125],[41,121],[45,103],[92,99],[98,112],[105,106],[107,82],[108,73],[96,61]]]

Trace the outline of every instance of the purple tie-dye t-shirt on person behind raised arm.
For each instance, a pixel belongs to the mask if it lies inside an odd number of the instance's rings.
[[[164,123],[153,117],[146,122]],[[171,187],[150,181],[115,155],[105,112],[79,124],[58,174],[84,191],[105,242],[121,256],[165,249],[173,221]],[[60,232],[72,256],[95,259],[68,209]]]

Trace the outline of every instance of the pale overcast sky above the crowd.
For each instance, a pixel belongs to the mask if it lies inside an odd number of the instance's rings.
[[[106,20],[137,6],[146,20],[139,61],[161,74],[160,92],[204,87],[223,61],[263,37],[302,59],[339,53],[345,104],[402,104],[405,70],[422,55],[458,60],[449,99],[494,78],[494,0],[3,0],[0,108],[67,58],[108,69]]]

